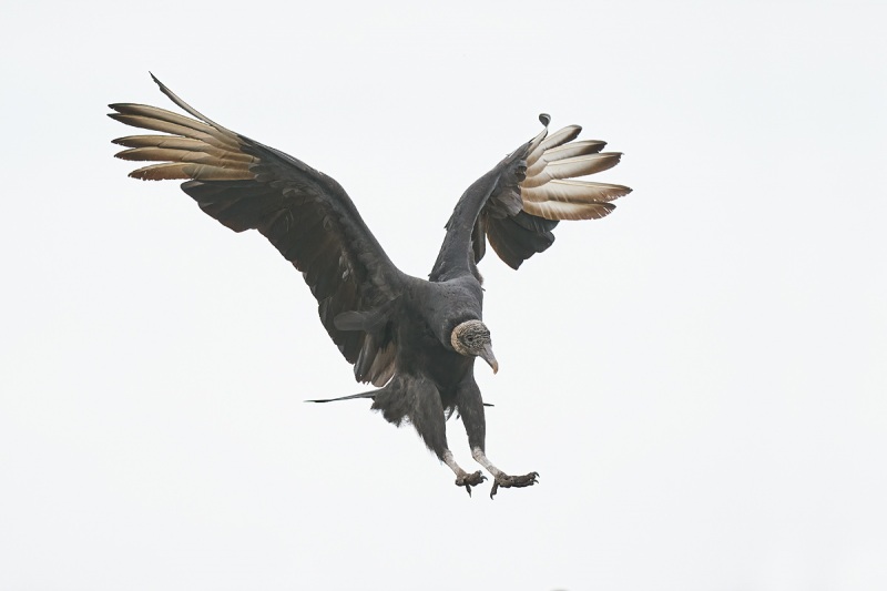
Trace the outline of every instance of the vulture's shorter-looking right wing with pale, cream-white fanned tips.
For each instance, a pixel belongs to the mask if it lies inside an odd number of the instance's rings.
[[[601,152],[598,140],[573,141],[582,128],[569,125],[548,134],[549,115],[539,135],[506,156],[472,184],[459,200],[431,272],[441,281],[471,271],[489,241],[510,267],[541,253],[554,242],[561,220],[597,220],[615,208],[611,202],[631,193],[623,185],[578,177],[615,166],[619,152]]]

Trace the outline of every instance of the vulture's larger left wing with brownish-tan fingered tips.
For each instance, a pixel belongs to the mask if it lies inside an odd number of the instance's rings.
[[[302,272],[355,377],[384,385],[394,373],[389,319],[402,275],[345,190],[307,164],[213,122],[154,82],[194,119],[155,106],[110,105],[115,113],[109,116],[163,133],[114,140],[128,147],[118,157],[157,162],[130,176],[186,180],[182,190],[204,212],[235,232],[258,230]]]

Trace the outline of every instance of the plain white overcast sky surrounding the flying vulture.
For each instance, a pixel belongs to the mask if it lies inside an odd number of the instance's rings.
[[[885,588],[879,3],[317,4],[4,9],[0,588]],[[363,386],[300,276],[112,157],[149,70],[419,276],[539,112],[625,152],[613,215],[482,265],[489,454],[539,486],[302,401]]]

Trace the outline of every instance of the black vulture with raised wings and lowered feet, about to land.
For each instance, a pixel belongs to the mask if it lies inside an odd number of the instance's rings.
[[[235,232],[258,230],[302,272],[317,298],[320,322],[354,365],[357,381],[377,389],[335,398],[371,398],[395,425],[412,424],[428,448],[471,493],[486,480],[467,472],[447,445],[446,419],[458,411],[471,455],[499,487],[528,487],[537,472],[510,476],[485,454],[485,404],[475,381],[475,358],[493,373],[490,332],[482,322],[483,291],[477,264],[486,243],[512,268],[554,241],[561,220],[594,220],[626,186],[575,180],[614,166],[621,154],[600,141],[574,141],[581,128],[548,134],[549,115],[536,137],[506,156],[462,194],[446,225],[428,281],[401,273],[357,213],[345,190],[274,147],[215,123],[153,77],[188,115],[120,103],[109,116],[163,135],[114,140],[123,160],[156,162],[135,179],[185,180],[182,190]],[[328,400],[315,400],[328,401]]]

